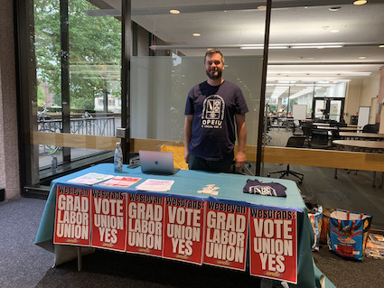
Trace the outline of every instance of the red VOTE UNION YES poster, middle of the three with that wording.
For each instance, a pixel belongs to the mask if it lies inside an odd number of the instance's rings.
[[[205,201],[166,198],[165,258],[202,264]]]

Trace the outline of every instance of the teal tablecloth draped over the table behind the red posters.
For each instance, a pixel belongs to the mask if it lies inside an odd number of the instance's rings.
[[[313,229],[309,218],[307,217],[307,209],[305,207],[304,201],[302,200],[300,191],[297,188],[295,181],[280,180],[280,179],[271,179],[263,177],[252,177],[245,175],[235,175],[227,173],[211,173],[211,172],[201,172],[201,171],[188,171],[181,170],[175,175],[149,175],[143,174],[140,168],[128,169],[126,165],[123,167],[123,173],[115,173],[113,164],[98,164],[96,166],[90,167],[88,169],[82,170],[80,172],[74,172],[70,175],[63,176],[52,181],[51,192],[48,197],[44,212],[42,214],[42,220],[40,223],[39,230],[35,239],[35,244],[42,246],[43,248],[51,251],[55,254],[55,265],[66,261],[67,259],[60,259],[61,255],[66,255],[66,257],[75,257],[76,252],[70,253],[68,255],[68,249],[71,246],[57,246],[53,245],[53,231],[54,231],[54,213],[56,206],[56,185],[65,184],[69,187],[80,187],[89,188],[90,186],[80,185],[75,183],[68,182],[71,179],[85,175],[89,172],[98,172],[105,173],[110,175],[126,175],[130,177],[140,177],[145,179],[162,179],[162,180],[173,180],[172,189],[168,192],[150,192],[151,194],[161,195],[163,197],[167,195],[177,195],[181,198],[197,198],[210,201],[224,201],[230,202],[233,204],[238,204],[241,206],[254,206],[257,205],[259,209],[290,209],[295,210],[299,215],[298,221],[298,283],[297,285],[290,284],[290,286],[295,287],[321,287],[319,283],[319,278],[322,273],[314,265],[314,260],[312,257],[312,243],[314,239]],[[286,186],[286,198],[283,197],[271,197],[271,196],[262,196],[255,194],[243,193],[243,187],[246,184],[248,179],[258,179],[258,181],[275,181]],[[141,181],[140,181],[141,182]],[[140,183],[138,182],[138,183]],[[208,196],[204,194],[197,193],[198,190],[201,190],[208,184],[215,184],[220,187],[218,196]],[[128,191],[128,192],[137,192],[135,186],[130,187],[129,189],[118,189],[118,188],[109,188],[106,189],[105,186],[93,185],[92,189],[98,190],[118,190],[118,191]],[[66,249],[64,253],[61,253],[61,249]],[[327,284],[325,287],[334,287],[327,279],[325,279]]]

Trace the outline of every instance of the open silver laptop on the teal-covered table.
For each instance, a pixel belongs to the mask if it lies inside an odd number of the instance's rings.
[[[140,150],[141,172],[172,175],[180,169],[173,168],[173,153]]]

